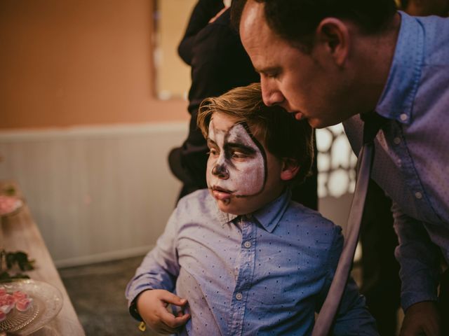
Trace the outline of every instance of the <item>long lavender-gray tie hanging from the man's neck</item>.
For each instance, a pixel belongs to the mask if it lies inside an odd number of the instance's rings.
[[[316,318],[312,336],[327,336],[337,313],[342,294],[346,286],[349,272],[351,272],[354,253],[356,251],[360,224],[365,207],[368,182],[370,181],[371,167],[374,158],[374,138],[380,127],[387,120],[377,113],[361,114],[363,120],[363,146],[358,154],[357,183],[354,196],[352,197],[351,211],[349,211],[347,237],[340,260],[338,261],[335,276],[330,284],[328,296],[321,307],[318,318]]]

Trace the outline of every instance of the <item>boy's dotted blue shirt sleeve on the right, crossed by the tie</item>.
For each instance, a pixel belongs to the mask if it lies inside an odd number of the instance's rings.
[[[326,275],[325,285],[321,291],[318,309],[321,309],[321,306],[326,299],[330,283],[335,275],[338,260],[340,259],[340,254],[342,253],[343,236],[341,230],[340,227],[335,227],[334,229],[333,244],[330,247],[328,257],[328,274]],[[375,319],[371,316],[366,307],[365,297],[358,293],[358,286],[351,276],[349,276],[347,286],[343,292],[342,302],[340,303],[337,316],[335,317],[332,335],[379,335]]]

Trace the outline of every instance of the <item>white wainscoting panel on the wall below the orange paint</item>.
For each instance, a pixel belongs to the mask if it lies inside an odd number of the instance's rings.
[[[187,127],[3,131],[0,179],[20,184],[56,265],[140,255],[154,246],[175,205],[181,184],[167,155]]]

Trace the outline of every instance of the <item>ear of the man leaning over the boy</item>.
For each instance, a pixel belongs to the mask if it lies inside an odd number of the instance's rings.
[[[323,43],[337,66],[343,66],[349,53],[350,35],[347,25],[337,18],[324,18],[316,28],[317,41]]]

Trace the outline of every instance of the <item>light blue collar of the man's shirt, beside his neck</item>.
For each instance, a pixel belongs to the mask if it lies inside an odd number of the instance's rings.
[[[410,15],[401,15],[396,50],[387,85],[376,106],[376,112],[399,123],[411,123],[411,111],[419,84],[424,58],[424,31]]]

